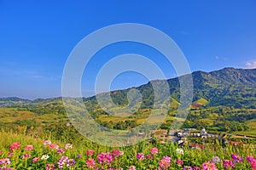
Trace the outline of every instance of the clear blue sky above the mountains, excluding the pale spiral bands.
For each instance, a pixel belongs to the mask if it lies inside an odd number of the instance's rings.
[[[76,44],[92,31],[140,23],[165,32],[186,56],[191,71],[256,67],[256,2],[247,1],[12,1],[0,0],[0,97],[61,96],[64,65]],[[122,43],[103,48],[83,77],[91,95],[96,72],[119,54],[143,54],[167,78],[172,66],[153,49]],[[121,65],[120,65],[121,66]],[[85,73],[84,73],[85,74]],[[117,77],[112,89],[148,80],[134,72]]]

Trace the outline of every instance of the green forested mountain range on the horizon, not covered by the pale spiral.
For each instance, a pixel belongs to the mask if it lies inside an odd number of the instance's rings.
[[[219,71],[195,71],[193,77],[193,102],[206,106],[232,106],[235,108],[256,108],[256,69],[224,68]],[[155,80],[154,82],[161,81]],[[170,87],[172,100],[179,102],[179,77],[167,80]],[[111,92],[113,103],[127,105],[127,93],[129,89],[115,90]],[[136,88],[143,96],[142,109],[152,107],[154,103],[154,89],[151,82]],[[20,99],[16,97],[0,98],[0,106],[17,105],[46,105],[58,101],[53,99]],[[90,107],[97,107],[96,96],[84,98],[90,101]],[[88,102],[87,102],[88,103]]]

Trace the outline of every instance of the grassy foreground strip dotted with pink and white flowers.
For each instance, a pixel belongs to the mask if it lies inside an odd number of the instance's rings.
[[[123,148],[0,132],[0,169],[256,169],[256,150],[215,145],[204,150],[147,141]]]

